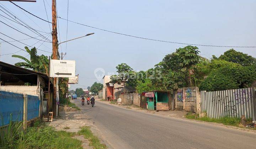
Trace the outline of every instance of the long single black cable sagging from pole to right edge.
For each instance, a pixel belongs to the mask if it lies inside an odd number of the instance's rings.
[[[57,17],[58,17],[58,16],[57,16]],[[98,30],[101,30],[101,31],[106,31],[106,32],[110,32],[110,33],[114,33],[114,34],[119,34],[119,35],[124,35],[124,36],[129,36],[129,37],[134,37],[134,38],[140,38],[140,39],[146,39],[146,40],[153,40],[153,41],[156,41],[156,42],[165,42],[165,43],[174,43],[174,44],[185,44],[185,45],[197,45],[197,46],[211,46],[211,47],[256,48],[256,46],[225,46],[225,45],[190,44],[190,43],[180,43],[180,42],[171,42],[171,41],[166,41],[166,40],[158,40],[158,39],[144,38],[144,37],[138,37],[138,36],[134,36],[134,35],[128,35],[128,34],[113,32],[113,31],[109,31],[109,30],[106,30],[106,29],[101,29],[101,28],[89,26],[89,25],[82,24],[82,23],[78,23],[78,22],[75,22],[75,21],[70,21],[70,20],[68,20],[68,19],[64,19],[64,18],[61,18],[61,17],[58,17],[58,18],[63,19],[63,20],[66,20],[66,21],[69,21],[69,22],[73,22],[73,23],[76,23],[76,24],[80,24],[80,25],[82,25],[82,26],[86,26],[86,27],[90,27],[90,28],[95,28],[95,29],[98,29]]]

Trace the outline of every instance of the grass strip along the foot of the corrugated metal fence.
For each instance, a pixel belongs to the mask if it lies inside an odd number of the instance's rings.
[[[189,112],[188,114],[186,114],[185,117],[188,119],[193,119],[193,120],[200,120],[200,121],[214,122],[214,123],[223,123],[224,125],[241,127],[239,117],[220,117],[220,118],[209,118],[207,116],[199,117],[198,114],[194,114],[192,112]],[[250,120],[251,119],[248,118],[247,121],[250,121]]]

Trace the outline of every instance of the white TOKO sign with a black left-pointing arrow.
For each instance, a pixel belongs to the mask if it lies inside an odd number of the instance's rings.
[[[74,78],[75,61],[50,60],[50,77]]]

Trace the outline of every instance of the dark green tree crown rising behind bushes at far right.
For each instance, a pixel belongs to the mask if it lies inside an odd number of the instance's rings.
[[[256,64],[256,59],[248,54],[238,52],[234,49],[230,49],[224,52],[223,55],[220,55],[219,59],[234,62],[242,66],[250,66]]]

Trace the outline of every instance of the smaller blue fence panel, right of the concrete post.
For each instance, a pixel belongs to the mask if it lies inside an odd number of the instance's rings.
[[[27,96],[28,96],[27,120],[29,121],[33,118],[38,117],[40,100],[38,96],[32,96],[32,95],[27,95]]]

